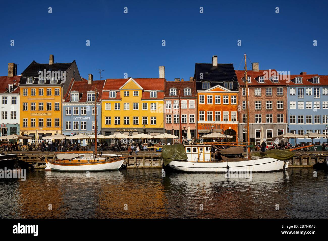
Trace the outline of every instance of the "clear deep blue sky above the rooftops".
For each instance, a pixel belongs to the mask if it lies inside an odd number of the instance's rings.
[[[188,80],[212,55],[240,70],[244,52],[260,69],[328,74],[326,11],[324,1],[7,1],[0,75],[9,62],[20,74],[53,54],[55,62],[76,60],[85,78],[99,79],[96,69],[104,78],[157,78],[164,65],[167,80]]]

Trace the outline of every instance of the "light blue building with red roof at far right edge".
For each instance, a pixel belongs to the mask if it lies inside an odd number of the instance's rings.
[[[288,83],[288,124],[290,133],[328,134],[328,76],[301,72],[291,75]],[[315,138],[313,143],[326,142]],[[295,144],[295,139],[290,139]],[[297,138],[297,143],[312,143],[311,139]]]

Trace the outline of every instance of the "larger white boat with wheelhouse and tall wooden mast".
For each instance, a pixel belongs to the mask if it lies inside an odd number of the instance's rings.
[[[247,80],[247,64],[245,53],[245,79]],[[248,92],[247,81],[246,93]],[[246,94],[246,103],[248,95]],[[226,158],[215,160],[211,154],[211,145],[187,145],[185,151],[186,160],[173,160],[168,166],[174,170],[187,172],[230,172],[230,171],[252,171],[252,172],[271,172],[284,171],[288,168],[288,160],[279,160],[272,157],[252,157],[250,153],[249,139],[249,111],[246,104],[246,122],[247,122],[247,157],[246,158]],[[163,150],[164,151],[164,150]]]

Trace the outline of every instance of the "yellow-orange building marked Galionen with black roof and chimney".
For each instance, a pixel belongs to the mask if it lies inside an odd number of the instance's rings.
[[[35,142],[38,130],[42,137],[62,133],[62,99],[72,79],[80,79],[75,61],[49,64],[33,61],[22,73],[20,81],[20,132]],[[30,141],[30,140],[29,140]]]

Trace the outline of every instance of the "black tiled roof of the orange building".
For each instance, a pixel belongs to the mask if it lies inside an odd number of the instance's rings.
[[[203,79],[200,79],[200,73],[203,73]],[[195,63],[194,79],[196,79],[197,90],[202,90],[201,81],[210,81],[210,88],[216,85],[224,86],[222,82],[234,82],[233,90],[238,89],[233,64],[217,64],[217,66],[213,66],[213,64]]]

